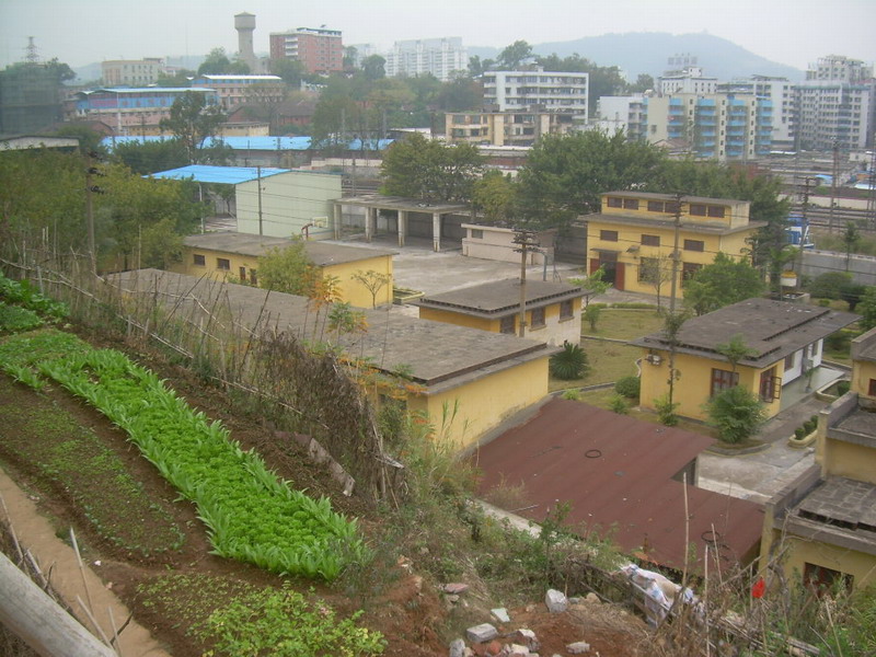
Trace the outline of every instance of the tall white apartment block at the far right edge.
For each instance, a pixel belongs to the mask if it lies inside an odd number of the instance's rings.
[[[857,150],[873,145],[876,129],[873,69],[857,59],[822,57],[796,87],[799,147]]]

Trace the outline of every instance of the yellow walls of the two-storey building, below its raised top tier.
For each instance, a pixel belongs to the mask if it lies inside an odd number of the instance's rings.
[[[604,241],[600,239],[602,230],[611,230],[618,232],[618,241]],[[746,239],[751,237],[757,229],[740,231],[730,235],[716,235],[698,233],[691,230],[679,231],[679,252],[681,253],[681,261],[678,266],[678,289],[677,295],[683,298],[684,291],[681,285],[681,273],[684,263],[711,265],[715,261],[717,253],[724,252],[727,255],[741,258],[745,256],[745,251],[748,249]],[[659,246],[646,246],[642,244],[642,235],[658,235],[660,238]],[[687,251],[684,250],[684,240],[698,240],[703,242],[703,251]],[[664,257],[661,263],[671,272],[671,260],[669,255],[672,253],[672,245],[675,243],[675,235],[671,229],[659,229],[647,226],[630,226],[626,223],[613,222],[610,218],[589,219],[587,226],[587,249],[588,261],[598,260],[599,252],[596,250],[603,249],[608,251],[618,252],[618,262],[624,265],[624,283],[623,289],[631,292],[643,292],[646,295],[655,295],[656,287],[648,281],[638,280],[639,265],[642,258],[659,258]],[[629,249],[634,251],[629,251]],[[671,287],[670,275],[665,276],[665,280],[660,288],[661,296],[669,296]]]

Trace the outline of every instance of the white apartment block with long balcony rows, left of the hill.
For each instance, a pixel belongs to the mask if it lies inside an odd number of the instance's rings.
[[[545,71],[486,71],[484,105],[498,112],[520,112],[539,106],[544,112],[572,114],[587,120],[590,76]]]

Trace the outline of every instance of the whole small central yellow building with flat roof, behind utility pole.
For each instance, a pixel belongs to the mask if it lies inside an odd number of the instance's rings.
[[[581,288],[567,283],[527,280],[525,337],[550,345],[581,338]],[[520,279],[509,278],[465,287],[415,301],[419,318],[519,335]]]

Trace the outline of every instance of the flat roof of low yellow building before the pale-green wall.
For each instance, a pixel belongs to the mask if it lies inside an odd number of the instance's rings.
[[[295,242],[285,238],[269,238],[266,235],[254,235],[241,232],[215,232],[199,235],[187,235],[183,239],[183,244],[192,249],[209,249],[210,251],[221,251],[223,253],[235,253],[239,255],[250,255],[260,257],[272,249],[286,249]],[[344,263],[355,263],[371,257],[382,255],[395,255],[395,251],[379,249],[364,249],[358,246],[345,246],[318,240],[304,242],[304,250],[314,265],[325,267]]]

